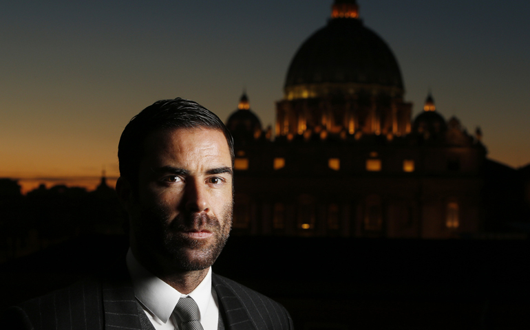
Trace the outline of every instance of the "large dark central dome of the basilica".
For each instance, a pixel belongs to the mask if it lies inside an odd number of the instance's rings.
[[[343,5],[341,2],[334,5],[334,17],[335,6]],[[330,19],[301,45],[290,63],[284,89],[287,95],[299,85],[324,83],[394,87],[403,93],[401,71],[392,50],[354,17]]]

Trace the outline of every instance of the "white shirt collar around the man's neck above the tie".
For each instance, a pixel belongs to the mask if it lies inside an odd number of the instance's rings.
[[[181,294],[140,265],[130,248],[127,252],[126,261],[134,287],[134,295],[145,308],[149,309],[162,322],[167,322],[180,297],[186,296],[195,300],[199,307],[200,316],[206,315],[206,309],[211,302],[211,267],[198,287],[186,295]]]

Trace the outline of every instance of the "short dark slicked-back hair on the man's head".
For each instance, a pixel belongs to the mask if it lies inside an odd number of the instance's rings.
[[[135,115],[121,133],[118,144],[120,175],[138,184],[140,160],[143,157],[143,143],[147,135],[164,129],[218,129],[224,133],[229,145],[232,166],[234,162],[234,142],[229,130],[215,113],[197,102],[176,98],[160,100]]]

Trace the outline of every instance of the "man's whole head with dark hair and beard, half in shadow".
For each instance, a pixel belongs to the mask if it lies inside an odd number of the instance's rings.
[[[189,100],[158,101],[127,124],[118,158],[135,256],[160,270],[209,267],[233,208],[233,142],[221,120]]]

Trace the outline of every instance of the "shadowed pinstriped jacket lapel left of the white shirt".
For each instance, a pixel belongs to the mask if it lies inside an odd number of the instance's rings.
[[[103,281],[105,329],[142,329],[138,316],[138,303],[130,282],[114,279]]]

